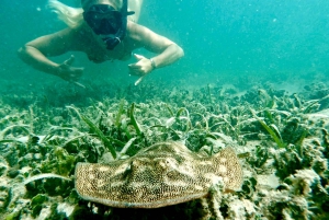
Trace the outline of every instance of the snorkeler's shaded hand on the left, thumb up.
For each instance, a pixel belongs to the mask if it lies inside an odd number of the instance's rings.
[[[75,61],[75,56],[71,55],[71,57],[67,60],[65,60],[61,65],[58,66],[57,74],[61,79],[68,81],[78,83],[77,81],[80,79],[80,77],[83,73],[83,68],[78,67],[71,67],[71,65]]]

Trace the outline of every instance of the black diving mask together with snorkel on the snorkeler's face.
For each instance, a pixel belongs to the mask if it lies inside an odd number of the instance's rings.
[[[106,48],[112,50],[125,37],[127,15],[134,13],[127,11],[127,0],[124,0],[122,11],[109,4],[93,4],[83,12],[83,19],[97,35],[102,35]]]

